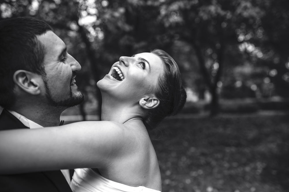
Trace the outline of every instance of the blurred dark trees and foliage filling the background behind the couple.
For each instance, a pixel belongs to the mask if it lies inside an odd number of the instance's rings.
[[[99,104],[95,83],[120,56],[161,48],[199,99],[210,92],[212,114],[219,97],[289,96],[288,10],[286,0],[0,1],[1,19],[53,26],[83,66],[78,84]]]

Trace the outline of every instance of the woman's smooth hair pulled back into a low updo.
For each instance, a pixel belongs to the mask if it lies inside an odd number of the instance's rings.
[[[155,49],[151,53],[161,58],[164,73],[160,75],[157,86],[153,89],[160,104],[155,109],[150,109],[144,119],[144,125],[148,130],[155,128],[166,116],[176,115],[184,107],[187,98],[175,60],[160,49]]]

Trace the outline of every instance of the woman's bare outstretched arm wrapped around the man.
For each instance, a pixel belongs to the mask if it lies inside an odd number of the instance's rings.
[[[125,153],[127,138],[124,125],[111,121],[0,131],[0,174],[104,168]]]

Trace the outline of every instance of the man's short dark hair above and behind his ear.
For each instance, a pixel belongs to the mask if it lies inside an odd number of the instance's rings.
[[[0,105],[9,109],[15,96],[13,74],[26,70],[45,75],[43,60],[44,45],[37,35],[51,31],[42,20],[32,17],[17,17],[0,21]]]

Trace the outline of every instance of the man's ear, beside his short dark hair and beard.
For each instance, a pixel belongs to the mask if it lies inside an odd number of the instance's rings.
[[[25,70],[17,70],[13,75],[14,83],[16,83],[19,88],[32,95],[40,94],[38,80],[39,75]]]

